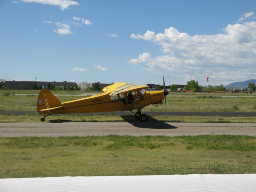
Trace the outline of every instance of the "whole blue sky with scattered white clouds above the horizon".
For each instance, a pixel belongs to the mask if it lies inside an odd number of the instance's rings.
[[[0,78],[256,79],[255,8],[255,0],[0,0]]]

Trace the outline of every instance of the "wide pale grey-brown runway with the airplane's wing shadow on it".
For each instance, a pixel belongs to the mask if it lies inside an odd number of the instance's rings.
[[[0,123],[0,136],[105,136],[116,135],[204,135],[233,134],[256,136],[252,123],[128,123],[63,122]]]

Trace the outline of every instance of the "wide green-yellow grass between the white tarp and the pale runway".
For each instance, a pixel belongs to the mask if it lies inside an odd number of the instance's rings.
[[[256,173],[252,136],[0,138],[0,178]]]

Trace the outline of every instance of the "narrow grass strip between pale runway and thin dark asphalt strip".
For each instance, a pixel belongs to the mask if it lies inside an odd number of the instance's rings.
[[[0,115],[0,123],[40,122],[40,114]],[[93,114],[93,115],[52,115],[45,122],[140,122],[134,115]],[[204,122],[204,123],[256,123],[255,116],[149,116],[148,122]]]

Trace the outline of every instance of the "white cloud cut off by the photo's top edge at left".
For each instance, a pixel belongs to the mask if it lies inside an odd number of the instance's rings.
[[[27,3],[42,3],[42,4],[49,4],[59,6],[60,9],[63,11],[67,9],[71,5],[78,5],[78,2],[72,0],[22,0],[23,2]]]

